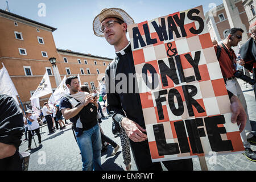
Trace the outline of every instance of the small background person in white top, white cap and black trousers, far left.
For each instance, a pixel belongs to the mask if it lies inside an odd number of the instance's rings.
[[[25,112],[26,121],[24,122],[24,124],[28,125],[28,148],[27,148],[27,150],[31,150],[32,132],[33,131],[36,133],[36,135],[38,135],[39,146],[42,145],[38,117],[36,117],[36,115],[32,114],[32,113],[33,113],[32,110],[27,110]]]

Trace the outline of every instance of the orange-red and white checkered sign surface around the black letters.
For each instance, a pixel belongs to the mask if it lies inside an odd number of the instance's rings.
[[[203,13],[203,6],[196,7],[195,9],[200,10],[199,16],[205,19],[204,13]],[[183,12],[187,13],[188,11],[189,10],[183,11]],[[179,16],[180,13],[181,12],[174,13],[171,15],[177,14]],[[133,49],[133,58],[134,58],[136,73],[138,75],[141,75],[143,65],[145,63],[148,63],[155,68],[159,78],[158,88],[156,88],[155,90],[151,90],[144,83],[142,76],[137,77],[152,161],[158,162],[163,160],[193,158],[199,155],[199,154],[192,154],[191,152],[187,154],[159,156],[158,149],[156,147],[154,131],[152,127],[153,125],[157,123],[163,123],[166,142],[174,143],[174,142],[177,142],[177,135],[175,132],[174,122],[181,121],[184,119],[205,118],[205,117],[214,116],[214,115],[224,115],[226,123],[218,127],[224,126],[226,128],[227,134],[221,134],[221,137],[222,137],[222,140],[232,140],[232,144],[234,148],[234,151],[226,151],[226,152],[218,152],[218,153],[228,154],[230,152],[242,151],[243,146],[242,146],[240,133],[237,125],[233,124],[230,119],[232,112],[230,110],[230,101],[228,97],[228,92],[225,87],[224,79],[221,74],[220,65],[218,63],[216,53],[214,51],[212,40],[210,38],[210,34],[207,30],[206,24],[201,34],[199,35],[192,34],[189,31],[189,29],[191,27],[198,29],[199,23],[189,20],[186,16],[184,27],[185,27],[185,31],[187,32],[187,37],[176,38],[176,35],[174,34],[174,38],[172,40],[160,42],[158,35],[156,34],[155,28],[152,26],[151,22],[155,21],[159,25],[160,19],[165,18],[167,22],[168,16],[170,15],[156,18],[150,21],[145,21],[138,24],[133,24],[128,27],[129,36],[131,40],[131,47]],[[154,45],[149,45],[143,48],[139,44],[139,48],[134,49],[133,27],[139,28],[142,38],[146,43],[146,37],[144,35],[144,30],[142,27],[143,24],[145,23],[148,24],[151,39],[156,38],[158,40],[158,43]],[[178,26],[177,28],[181,35],[180,28]],[[177,54],[180,55],[181,65],[183,67],[185,77],[195,76],[195,73],[192,65],[189,64],[187,59],[185,59],[184,55],[189,53],[191,54],[192,57],[195,57],[195,52],[201,51],[199,71],[202,79],[200,81],[193,81],[189,83],[182,83],[180,85],[175,85],[174,82],[170,78],[168,78],[168,86],[163,86],[160,73],[159,73],[160,71],[158,66],[158,60],[163,60],[170,67],[168,63],[168,56],[167,56],[167,51],[168,51],[167,43],[170,43],[170,42],[172,43],[172,49],[176,48],[178,52]],[[185,85],[185,84],[196,86],[198,92],[196,96],[194,96],[193,98],[204,108],[205,110],[204,113],[198,113],[195,107],[193,107],[195,117],[189,117],[183,90],[182,90],[182,85]],[[154,92],[158,90],[163,90],[163,89],[170,90],[172,88],[177,89],[181,94],[181,98],[184,104],[184,113],[180,117],[175,116],[170,110],[170,107],[168,106],[168,98],[166,98],[167,102],[162,103],[164,120],[160,121],[158,117],[158,111],[156,109]],[[168,94],[166,95],[166,97],[168,97]],[[205,130],[205,134],[207,134],[207,130],[205,129],[205,126],[204,126],[204,130]],[[187,137],[188,137],[188,134],[187,134]],[[200,139],[201,139],[201,143],[203,145],[203,150],[204,150],[203,155],[208,156],[209,152],[212,151],[212,149],[210,148],[209,139],[208,137],[201,137]],[[200,156],[202,155],[200,154]]]

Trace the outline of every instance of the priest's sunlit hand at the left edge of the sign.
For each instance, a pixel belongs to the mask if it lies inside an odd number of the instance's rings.
[[[139,126],[138,123],[131,121],[128,118],[123,118],[121,124],[123,129],[125,129],[127,136],[133,140],[133,142],[143,142],[147,139],[147,135],[142,133],[146,132],[146,130]]]

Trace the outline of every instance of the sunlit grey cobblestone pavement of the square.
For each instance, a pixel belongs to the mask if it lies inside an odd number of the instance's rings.
[[[251,86],[243,84],[243,81],[239,81],[243,93],[245,94],[249,117],[253,130],[256,131],[256,102],[254,92]],[[102,119],[101,123],[104,133],[112,138],[115,142],[121,146],[120,138],[114,138],[111,131],[112,119]],[[35,135],[35,143],[32,140],[32,150],[28,151],[31,153],[28,170],[30,171],[81,171],[81,155],[79,147],[77,146],[76,140],[73,136],[71,129],[71,122],[67,125],[66,129],[56,130],[53,134],[48,134],[47,126],[40,129],[42,136],[42,146],[38,147],[38,138]],[[254,133],[255,134],[255,133]],[[255,134],[256,135],[256,134]],[[23,135],[24,139],[24,135]],[[23,141],[19,151],[25,151],[28,142]],[[115,156],[110,156],[113,151],[112,146],[108,146],[108,151],[102,153],[101,163],[102,168],[106,171],[123,171],[125,164],[123,164],[122,158],[122,147]],[[251,146],[252,150],[256,150],[256,146]],[[131,155],[132,156],[132,155]],[[206,157],[207,166],[209,171],[255,171],[256,163],[246,159],[242,154],[230,154],[217,156],[216,163],[209,163],[209,157]],[[132,156],[131,170],[137,171],[135,162]],[[201,171],[200,163],[198,158],[193,159],[193,166],[195,171]],[[166,170],[166,168],[163,169]]]

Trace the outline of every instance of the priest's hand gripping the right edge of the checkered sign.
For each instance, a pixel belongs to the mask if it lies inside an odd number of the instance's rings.
[[[237,96],[233,95],[230,99],[231,102],[231,110],[232,110],[232,117],[231,122],[236,123],[239,126],[240,125],[240,133],[245,129],[246,119],[247,115],[245,113],[245,109],[243,109],[243,106],[238,99]]]

